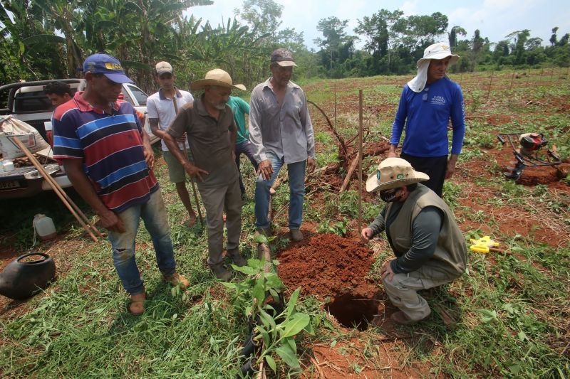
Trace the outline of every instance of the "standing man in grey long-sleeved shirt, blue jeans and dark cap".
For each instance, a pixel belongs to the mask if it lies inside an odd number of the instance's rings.
[[[305,167],[315,169],[315,139],[305,93],[291,82],[296,66],[289,50],[271,53],[271,78],[252,91],[249,113],[249,140],[259,164],[255,188],[257,233],[271,235],[269,188],[286,164],[289,174],[289,230],[300,241],[305,195]]]

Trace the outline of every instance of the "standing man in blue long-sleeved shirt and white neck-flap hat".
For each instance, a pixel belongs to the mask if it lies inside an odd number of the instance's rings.
[[[388,156],[398,156],[396,148],[405,127],[400,157],[430,176],[425,186],[442,196],[443,181],[451,178],[465,135],[465,106],[457,83],[445,73],[459,55],[445,43],[434,43],[418,60],[418,75],[404,86],[392,127]],[[447,124],[451,119],[453,137],[448,161]]]

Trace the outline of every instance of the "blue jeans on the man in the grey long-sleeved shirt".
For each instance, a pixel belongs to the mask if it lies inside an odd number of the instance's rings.
[[[285,164],[284,159],[277,158],[271,151],[266,153],[271,161],[273,174],[269,181],[259,175],[255,183],[255,227],[269,228],[269,188],[277,178],[279,170]],[[289,173],[289,229],[299,229],[303,221],[303,198],[305,196],[305,167],[307,161],[287,164]]]

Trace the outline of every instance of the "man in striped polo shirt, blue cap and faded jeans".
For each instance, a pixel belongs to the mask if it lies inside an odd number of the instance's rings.
[[[113,263],[130,294],[129,311],[145,311],[145,287],[135,262],[140,218],[152,237],[157,265],[172,285],[187,287],[177,274],[170,227],[152,172],[154,153],[133,106],[118,100],[121,83],[132,83],[120,62],[93,54],[83,63],[87,87],[53,115],[53,157],[63,161],[73,188],[109,230]]]

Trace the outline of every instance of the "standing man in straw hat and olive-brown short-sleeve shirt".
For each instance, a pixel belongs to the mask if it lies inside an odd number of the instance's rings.
[[[204,94],[182,106],[167,129],[164,141],[187,174],[197,178],[206,208],[208,265],[218,279],[229,280],[232,274],[222,264],[224,210],[227,215],[227,255],[238,266],[247,262],[239,253],[242,193],[234,161],[237,129],[232,110],[226,103],[232,88],[245,90],[245,87],[234,85],[229,74],[219,68],[208,71],[204,79],[193,82],[191,87],[192,90],[204,90]],[[185,133],[194,159],[192,162],[182,154],[176,142]]]

